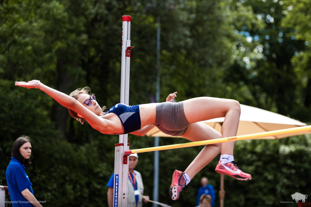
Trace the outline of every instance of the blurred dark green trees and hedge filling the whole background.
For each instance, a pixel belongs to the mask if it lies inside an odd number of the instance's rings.
[[[156,93],[156,32],[160,20],[160,99],[214,96],[239,100],[309,123],[310,2],[303,0],[0,0],[0,185],[12,145],[32,138],[26,172],[44,206],[106,206],[118,136],[81,126],[39,90],[14,86],[38,79],[69,94],[89,86],[107,107],[119,102],[122,16],[132,16],[130,104]],[[160,138],[160,145],[188,142]],[[129,135],[132,149],[153,138]],[[226,206],[282,206],[311,195],[310,137],[240,141],[235,159],[249,182],[225,176]],[[193,178],[177,201],[171,174],[184,170],[203,146],[160,151],[160,202],[194,206],[207,176],[219,204],[218,157]],[[145,194],[152,199],[153,153],[139,155]],[[150,203],[145,206],[151,206]]]

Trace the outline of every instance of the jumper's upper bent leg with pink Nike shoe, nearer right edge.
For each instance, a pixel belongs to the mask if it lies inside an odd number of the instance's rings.
[[[184,101],[183,106],[184,106],[185,115],[190,123],[217,118],[217,117],[225,117],[225,120],[222,124],[222,129],[221,129],[222,137],[236,136],[236,133],[238,131],[238,126],[239,126],[240,114],[241,114],[241,108],[240,108],[239,102],[235,100],[231,100],[231,99],[200,97],[200,98],[189,99],[189,100]],[[232,155],[231,156],[231,159],[232,159],[233,148],[234,148],[234,142],[222,143],[221,154]],[[229,158],[230,156],[228,157],[228,159]],[[252,176],[250,174],[242,172],[237,167],[236,163],[231,162],[231,161],[227,163],[219,162],[215,168],[215,171],[217,173],[229,175],[238,180],[252,179]],[[190,171],[190,173],[195,173],[195,171]]]

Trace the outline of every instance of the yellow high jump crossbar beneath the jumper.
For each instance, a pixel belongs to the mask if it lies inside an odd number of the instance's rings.
[[[142,149],[137,149],[137,150],[126,150],[124,154],[129,155],[129,154],[141,153],[141,152],[171,150],[171,149],[193,147],[193,146],[199,146],[199,145],[211,145],[211,144],[230,142],[230,141],[249,140],[249,139],[261,138],[261,137],[266,137],[266,136],[292,134],[292,133],[303,132],[303,131],[310,131],[311,133],[311,125],[303,126],[303,127],[294,127],[294,128],[289,128],[289,129],[280,129],[280,130],[275,130],[275,131],[265,131],[265,132],[255,133],[255,134],[224,137],[224,138],[213,139],[213,140],[188,142],[188,143],[183,143],[183,144],[165,145],[165,146],[159,146],[159,147],[149,147],[149,148],[142,148]]]

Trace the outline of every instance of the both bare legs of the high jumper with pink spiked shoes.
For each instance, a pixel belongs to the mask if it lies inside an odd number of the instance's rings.
[[[200,141],[208,139],[216,139],[220,137],[236,136],[239,126],[241,108],[239,102],[231,99],[219,99],[211,97],[200,97],[188,99],[183,102],[185,116],[190,123],[182,137],[191,141]],[[208,127],[200,121],[225,117],[222,125],[221,134],[216,130]],[[203,124],[203,125],[202,125]],[[204,126],[205,125],[205,126]],[[221,145],[221,154],[233,155],[234,142],[226,142]],[[197,157],[190,163],[185,172],[175,170],[173,173],[172,184],[169,189],[169,195],[173,200],[179,198],[179,192],[188,184],[190,180],[204,168],[212,159],[220,152],[220,145],[207,145]],[[222,165],[218,167],[218,165]],[[239,180],[252,179],[247,173],[243,173],[237,168],[234,162],[223,166],[218,163],[215,171],[230,175]],[[188,177],[188,176],[189,177]],[[183,179],[181,179],[183,177]]]

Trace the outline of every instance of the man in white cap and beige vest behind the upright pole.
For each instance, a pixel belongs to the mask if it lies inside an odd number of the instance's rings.
[[[148,202],[149,196],[143,195],[144,185],[142,182],[142,175],[134,170],[138,163],[138,155],[130,154],[128,156],[128,207],[142,207],[142,201]],[[108,205],[113,206],[114,196],[114,173],[112,173],[107,185]]]

